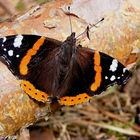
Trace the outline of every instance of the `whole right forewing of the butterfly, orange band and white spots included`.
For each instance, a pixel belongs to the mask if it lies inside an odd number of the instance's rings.
[[[131,73],[123,64],[102,52],[79,48],[76,61],[83,73],[81,80],[88,83],[86,84],[86,86],[88,85],[87,92],[92,96],[100,94],[114,84],[125,84],[131,77]],[[97,65],[96,61],[100,61],[99,65]]]

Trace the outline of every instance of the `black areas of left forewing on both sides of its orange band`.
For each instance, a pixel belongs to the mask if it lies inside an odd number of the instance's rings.
[[[17,36],[22,36],[21,45],[18,47],[14,46],[14,41]],[[19,65],[22,58],[26,55],[27,51],[33,47],[38,39],[41,36],[37,35],[12,35],[7,36],[5,39],[0,39],[0,56],[4,58],[5,62],[7,63],[9,69],[18,77],[21,77],[19,73]],[[5,41],[4,41],[5,40]],[[37,54],[32,57],[28,68],[29,71],[31,68],[35,67],[42,61],[45,57],[47,57],[48,53],[50,53],[53,49],[60,47],[61,42],[46,38],[44,43],[41,45],[40,49],[37,51]],[[9,56],[9,51],[12,54]],[[12,55],[12,56],[11,56]]]

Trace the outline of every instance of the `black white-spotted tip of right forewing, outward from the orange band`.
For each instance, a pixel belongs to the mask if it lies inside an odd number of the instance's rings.
[[[131,73],[117,59],[100,52],[102,67],[102,82],[97,94],[104,91],[107,87],[118,84],[125,84],[131,77]]]

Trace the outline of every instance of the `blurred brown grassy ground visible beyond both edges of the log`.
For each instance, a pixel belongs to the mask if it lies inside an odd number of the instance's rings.
[[[0,20],[49,1],[0,0]],[[139,140],[140,64],[137,63],[133,78],[126,85],[113,86],[90,103],[61,108],[45,120],[15,136],[21,140]]]

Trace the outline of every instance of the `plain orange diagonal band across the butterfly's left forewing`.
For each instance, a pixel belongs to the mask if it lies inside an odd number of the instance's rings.
[[[33,45],[33,47],[28,50],[27,54],[23,57],[21,60],[20,66],[19,66],[19,71],[20,74],[26,75],[28,73],[28,64],[31,61],[31,58],[33,55],[37,53],[41,45],[44,43],[45,37],[41,37],[36,41],[36,43]]]

